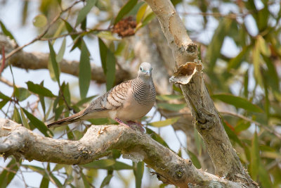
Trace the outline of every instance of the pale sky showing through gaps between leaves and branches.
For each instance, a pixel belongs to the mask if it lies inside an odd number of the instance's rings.
[[[1,2],[1,0],[0,0]],[[216,4],[217,2],[214,1],[214,4]],[[15,39],[17,40],[18,44],[23,45],[26,44],[27,42],[30,42],[32,39],[34,39],[34,37],[36,37],[38,35],[37,33],[37,28],[34,27],[34,25],[32,25],[32,19],[39,14],[38,10],[38,1],[34,0],[30,2],[30,8],[29,8],[29,16],[27,18],[27,25],[25,25],[25,27],[22,27],[20,22],[21,22],[21,4],[22,1],[20,0],[13,0],[13,1],[8,1],[4,6],[0,5],[0,20],[4,22],[4,24],[6,25],[7,29],[10,30],[13,34],[13,36],[15,37]],[[258,6],[258,8],[262,8],[262,4],[260,1],[256,1],[256,5]],[[279,9],[279,7],[277,8]],[[179,13],[183,13],[183,12],[187,12],[187,13],[198,13],[200,12],[198,10],[198,8],[192,6],[188,6],[185,4],[185,6],[183,7],[177,7],[177,11]],[[237,12],[237,7],[236,6],[229,6],[229,5],[224,5],[221,7],[221,11],[222,13],[228,13],[229,11],[233,11],[233,12]],[[93,24],[96,22],[96,18],[94,15],[91,15],[88,17],[89,19],[87,20],[89,23],[89,25]],[[204,42],[207,43],[211,40],[211,36],[214,33],[214,30],[216,29],[218,22],[214,19],[214,18],[209,18],[209,23],[207,25],[207,30],[204,30],[204,32],[202,32],[200,34],[200,36],[196,36],[197,39],[200,40],[200,42]],[[250,28],[251,31],[251,35],[256,35],[256,33],[258,32],[257,27],[254,23],[254,20],[251,16],[247,16],[247,25]],[[184,22],[185,25],[187,26],[188,29],[198,29],[198,30],[202,30],[202,23],[203,23],[203,19],[200,15],[189,15],[189,16],[185,16],[184,18]],[[192,36],[191,36],[192,37]],[[99,55],[99,49],[98,49],[98,43],[96,38],[95,39],[85,39],[86,41],[86,45],[88,46],[88,49],[91,53],[91,63],[96,63],[96,65],[100,65],[100,55]],[[58,49],[60,48],[60,45],[62,43],[62,39],[58,39],[55,42],[54,45],[54,49],[56,52],[58,52]],[[68,59],[68,60],[77,60],[79,61],[79,56],[80,56],[80,51],[75,49],[74,51],[70,52],[70,48],[72,46],[72,40],[70,39],[70,37],[67,37],[67,49],[65,50],[65,55],[64,58]],[[47,42],[35,42],[34,44],[25,47],[24,51],[41,51],[41,52],[46,52],[48,53],[48,43]],[[235,43],[233,42],[232,39],[230,38],[226,38],[225,41],[223,42],[223,48],[222,48],[222,52],[223,54],[225,54],[226,56],[229,57],[233,57],[236,56],[239,53],[239,49],[237,49],[237,47],[235,46]],[[25,82],[28,82],[30,80],[32,80],[32,82],[35,83],[40,83],[42,80],[44,80],[44,86],[48,89],[50,89],[54,94],[58,93],[58,85],[53,82],[49,76],[48,70],[23,70],[21,68],[15,68],[13,67],[13,74],[15,75],[15,84],[19,85],[20,87],[25,87],[27,88],[27,85],[25,84]],[[9,68],[6,68],[4,70],[4,72],[2,73],[2,76],[5,77],[6,79],[12,81],[12,77],[11,77],[11,71]],[[72,75],[67,75],[65,73],[61,73],[60,74],[60,79],[61,82],[65,81],[65,82],[69,82],[70,86],[72,88],[72,95],[74,94],[75,96],[79,97],[79,87],[78,87],[78,78],[74,77]],[[237,90],[235,88],[237,88],[239,85],[239,83],[237,83],[238,85],[233,86],[233,90]],[[11,87],[7,87],[5,84],[0,82],[0,90],[1,92],[3,92],[6,95],[11,95],[13,92],[13,89]],[[88,92],[88,96],[94,95],[94,94],[103,94],[105,92],[105,85],[97,85],[95,84],[95,82],[91,82],[90,85],[90,89]],[[35,97],[30,96],[30,98],[28,98],[27,100],[21,102],[20,104],[22,106],[25,106],[25,104],[27,104],[27,101],[32,101],[34,100]],[[4,108],[4,111],[6,111],[7,109],[7,105],[5,106],[6,108]],[[154,109],[152,109],[152,111],[150,111],[150,113],[148,115],[152,115],[152,112],[154,111]],[[4,114],[0,112],[0,117],[4,118]],[[159,114],[156,115],[155,120],[159,120]],[[186,138],[185,138],[185,134],[183,134],[183,132],[181,131],[177,131],[176,133],[174,132],[173,128],[171,126],[167,126],[167,127],[163,127],[161,128],[161,130],[158,130],[157,128],[153,128],[150,127],[153,130],[155,130],[156,132],[160,132],[160,135],[162,136],[162,138],[166,141],[167,144],[169,144],[169,146],[171,147],[171,149],[173,149],[174,151],[178,151],[178,149],[180,149],[181,145],[178,142],[178,139],[176,138],[176,135],[178,135],[179,139],[181,140],[181,143],[183,144],[183,146],[186,148]],[[37,131],[38,132],[38,131]],[[58,136],[58,135],[56,135]],[[184,152],[184,149],[182,150],[183,152],[183,158],[188,158],[188,155]],[[6,160],[4,162],[3,158],[0,158],[0,166],[6,166],[6,164],[9,162],[10,160]],[[122,157],[119,159],[119,161],[122,161],[124,163],[128,163],[131,165],[131,161],[130,160],[126,160],[123,159]],[[30,165],[38,165],[43,167],[41,162],[38,161],[32,161],[32,162],[28,162],[28,161],[24,161],[24,164],[30,164]],[[46,163],[45,163],[46,165]],[[51,168],[53,168],[55,165],[52,164]],[[1,170],[1,168],[0,168]],[[22,169],[25,170],[25,169]],[[152,170],[150,170],[152,171]],[[129,177],[129,176],[133,176],[133,172],[132,170],[119,170],[119,172],[122,173],[122,175],[124,177]],[[95,182],[93,183],[94,186],[96,187],[100,187],[101,182],[103,181],[103,178],[106,176],[107,171],[106,170],[100,170],[98,178],[95,180]],[[120,180],[118,180],[116,173],[114,173],[114,177],[112,177],[112,180],[110,181],[110,186],[109,187],[123,187],[122,186],[122,182]],[[41,183],[41,178],[42,176],[39,175],[39,173],[23,173],[23,176],[25,177],[25,181],[27,182],[27,184],[31,187],[39,187],[39,184]],[[58,177],[58,176],[56,176]],[[155,183],[160,184],[160,182],[157,180],[157,177],[155,176],[150,176],[150,174],[148,173],[148,168],[145,169],[145,174],[143,177],[143,186],[142,187],[149,187],[149,184],[146,184],[145,182],[147,182],[148,178],[152,178],[153,180],[155,180]],[[18,173],[18,175],[16,175],[13,179],[13,181],[11,182],[11,184],[9,184],[8,187],[24,187],[24,184],[22,183],[22,177],[21,175]],[[63,178],[58,177],[59,180],[61,180],[61,182],[63,183]],[[134,178],[131,179],[131,183],[129,187],[135,187],[135,182],[134,182]],[[118,185],[118,186],[117,186]],[[49,187],[55,187],[55,185],[53,185],[51,182],[49,184]],[[169,187],[173,187],[173,186],[169,186]]]

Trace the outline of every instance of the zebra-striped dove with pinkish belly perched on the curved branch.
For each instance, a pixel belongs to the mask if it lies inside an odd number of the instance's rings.
[[[143,132],[141,124],[133,120],[138,120],[146,115],[154,104],[155,87],[152,80],[152,66],[150,63],[143,62],[138,70],[138,77],[113,87],[79,113],[47,126],[59,127],[79,120],[111,118],[129,127],[137,125]]]

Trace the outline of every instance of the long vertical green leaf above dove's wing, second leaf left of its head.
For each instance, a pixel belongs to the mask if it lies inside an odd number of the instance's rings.
[[[85,42],[81,43],[81,56],[79,63],[79,89],[81,99],[86,98],[91,82],[90,53]]]

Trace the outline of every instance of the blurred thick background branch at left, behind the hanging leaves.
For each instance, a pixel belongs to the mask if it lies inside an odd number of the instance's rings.
[[[2,48],[2,46],[5,46],[6,53],[10,53],[16,47],[11,39],[8,39],[8,37],[0,34],[0,48]],[[18,68],[33,70],[46,69],[48,68],[48,60],[49,54],[46,53],[18,51],[7,59],[6,65],[11,63],[11,65]],[[63,59],[60,61],[59,65],[61,72],[78,76],[79,61],[67,61]],[[128,71],[121,69],[117,69],[115,74],[115,80],[117,83],[123,82],[124,80],[129,80],[131,77],[132,75]],[[104,83],[105,74],[103,73],[103,68],[92,63],[91,78],[92,80],[96,80],[98,83]]]

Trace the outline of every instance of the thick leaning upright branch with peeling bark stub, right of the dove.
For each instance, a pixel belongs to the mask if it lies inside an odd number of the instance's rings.
[[[197,47],[188,37],[181,18],[169,0],[146,0],[155,12],[176,60],[176,73],[171,82],[181,84],[193,122],[207,145],[216,173],[228,180],[249,183],[257,187],[244,170],[237,153],[223,128],[221,118],[209,96],[202,75],[202,63],[197,60]]]

